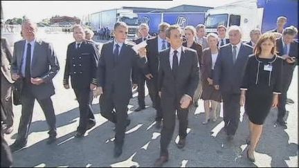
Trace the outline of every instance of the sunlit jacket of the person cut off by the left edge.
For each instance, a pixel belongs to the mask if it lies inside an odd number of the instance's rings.
[[[5,79],[10,83],[14,83],[10,74],[10,62],[12,61],[12,51],[10,50],[10,46],[8,45],[8,41],[6,38],[1,38],[1,77],[5,77]],[[1,78],[1,80],[4,80]]]

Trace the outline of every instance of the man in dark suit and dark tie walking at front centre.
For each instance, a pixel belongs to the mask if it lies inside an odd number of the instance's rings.
[[[161,131],[160,158],[155,162],[161,167],[168,160],[168,145],[172,140],[176,121],[179,118],[179,149],[185,146],[188,127],[188,107],[199,82],[197,52],[182,46],[182,30],[173,25],[166,30],[170,48],[159,53],[158,91],[161,95],[163,128]]]

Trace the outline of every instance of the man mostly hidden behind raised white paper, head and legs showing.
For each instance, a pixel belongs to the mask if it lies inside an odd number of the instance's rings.
[[[136,39],[134,42],[140,44],[142,41],[146,41],[151,36],[149,35],[149,26],[147,24],[141,24],[139,26],[139,31],[141,32],[141,37]],[[137,75],[137,91],[138,91],[138,108],[134,111],[141,111],[145,109],[145,75],[141,68],[135,67],[134,72]]]

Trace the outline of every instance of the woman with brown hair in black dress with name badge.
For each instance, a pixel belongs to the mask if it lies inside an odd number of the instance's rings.
[[[278,104],[282,88],[282,61],[275,55],[275,37],[265,33],[249,57],[241,86],[240,104],[245,104],[249,118],[250,145],[247,157],[255,162],[254,151],[262,134],[262,124],[271,107]]]

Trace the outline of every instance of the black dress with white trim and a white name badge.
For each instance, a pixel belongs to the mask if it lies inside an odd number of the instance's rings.
[[[241,89],[246,90],[245,111],[254,124],[263,124],[273,102],[273,93],[281,93],[283,59],[274,55],[264,59],[251,55]]]

